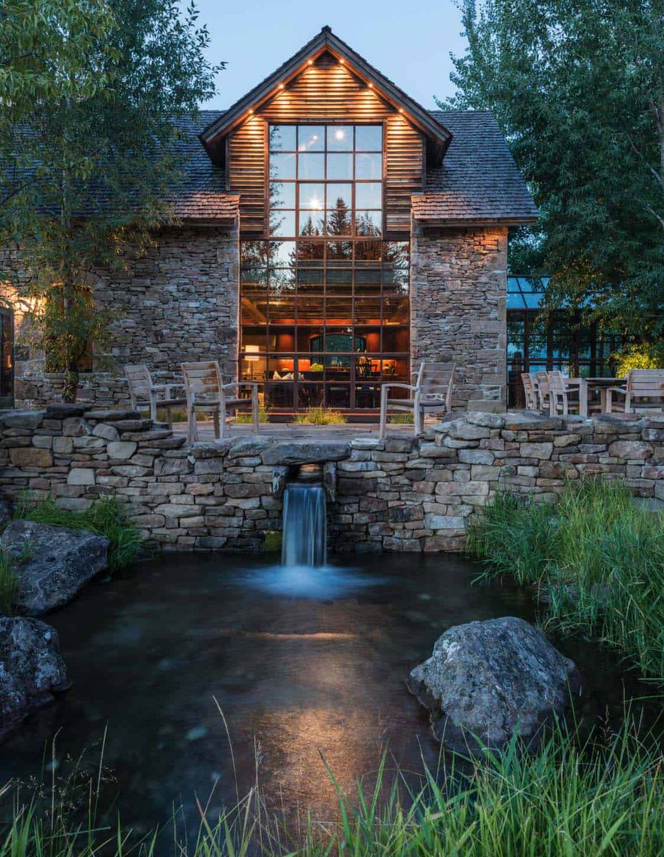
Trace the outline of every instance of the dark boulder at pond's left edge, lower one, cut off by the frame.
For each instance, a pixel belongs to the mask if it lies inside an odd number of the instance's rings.
[[[57,632],[37,619],[0,618],[0,738],[68,687]]]

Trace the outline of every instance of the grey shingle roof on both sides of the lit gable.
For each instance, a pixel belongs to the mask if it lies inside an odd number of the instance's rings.
[[[413,196],[413,216],[422,224],[532,223],[535,202],[518,171],[498,123],[488,111],[431,111],[452,132],[440,167],[428,170],[426,192]],[[176,197],[183,219],[234,217],[238,197],[225,193],[223,167],[200,145],[200,128],[224,111],[200,111],[179,120],[188,165]]]

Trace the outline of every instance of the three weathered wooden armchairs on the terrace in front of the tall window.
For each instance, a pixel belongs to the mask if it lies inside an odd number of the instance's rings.
[[[155,384],[144,363],[125,366],[129,383],[129,399],[135,411],[149,411],[157,419],[157,410],[166,411],[169,423],[173,411],[186,408],[188,442],[198,440],[197,414],[211,414],[214,436],[224,437],[227,417],[250,408],[255,434],[259,433],[258,384],[254,381],[224,382],[216,360],[201,363],[181,363],[181,384]],[[390,382],[380,388],[380,437],[386,433],[388,408],[393,411],[412,411],[415,434],[420,434],[424,417],[429,414],[445,415],[452,402],[454,363],[423,361],[414,376],[413,384]],[[183,387],[184,397],[174,398],[173,387]],[[399,391],[401,397],[392,391]],[[392,398],[391,398],[392,397]]]

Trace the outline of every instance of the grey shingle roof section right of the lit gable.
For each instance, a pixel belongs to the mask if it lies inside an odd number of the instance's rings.
[[[452,131],[442,164],[427,173],[426,193],[414,196],[422,223],[533,223],[537,207],[489,111],[432,111]]]

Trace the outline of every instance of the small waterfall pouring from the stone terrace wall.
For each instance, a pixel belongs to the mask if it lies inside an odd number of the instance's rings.
[[[326,536],[325,490],[320,485],[286,485],[282,566],[324,566]]]

